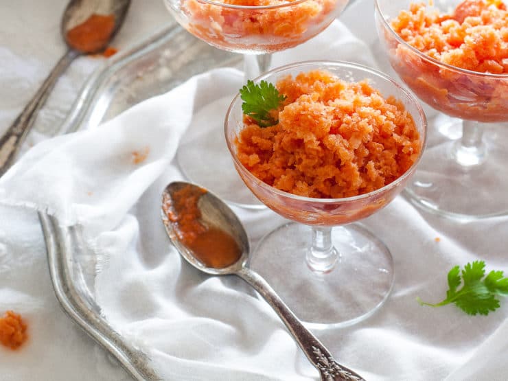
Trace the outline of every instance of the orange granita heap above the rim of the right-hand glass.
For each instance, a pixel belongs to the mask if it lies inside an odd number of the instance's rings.
[[[508,73],[508,12],[500,0],[465,0],[452,13],[413,3],[391,21],[406,43],[462,69]]]

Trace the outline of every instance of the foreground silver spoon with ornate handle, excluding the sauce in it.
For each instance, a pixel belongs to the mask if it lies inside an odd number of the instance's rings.
[[[249,259],[249,239],[247,233],[242,225],[242,222],[233,213],[229,207],[220,200],[217,196],[206,192],[200,196],[198,200],[198,209],[201,213],[201,220],[205,224],[213,224],[214,227],[221,229],[225,233],[231,235],[231,237],[237,242],[242,251],[242,255],[237,262],[224,268],[213,268],[205,266],[201,263],[192,249],[185,246],[183,242],[178,238],[178,234],[174,229],[174,224],[168,219],[168,210],[165,210],[168,205],[168,200],[174,200],[174,192],[183,187],[196,187],[197,185],[178,181],[170,183],[163,191],[162,194],[162,220],[170,239],[172,240],[176,249],[180,254],[192,264],[192,266],[199,270],[211,274],[211,275],[237,275],[244,279],[248,284],[253,286],[259,294],[270,304],[270,306],[277,312],[281,320],[288,328],[290,334],[295,338],[300,348],[305,353],[305,356],[310,360],[312,365],[318,369],[321,380],[327,381],[365,381],[362,377],[358,376],[357,373],[347,369],[342,365],[338,364],[336,360],[330,354],[330,351],[325,348],[323,344],[303,326],[301,321],[293,314],[288,306],[281,300],[279,295],[275,293],[273,288],[264,280],[259,274],[251,270],[247,266]]]

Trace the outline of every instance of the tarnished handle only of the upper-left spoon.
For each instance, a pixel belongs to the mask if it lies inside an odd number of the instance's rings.
[[[79,51],[69,49],[55,65],[49,76],[45,79],[32,100],[28,102],[21,114],[18,115],[14,123],[8,128],[5,134],[0,137],[0,176],[2,176],[12,165],[16,153],[21,147],[21,143],[32,128],[39,109],[45,104],[51,89],[69,64],[78,57]]]

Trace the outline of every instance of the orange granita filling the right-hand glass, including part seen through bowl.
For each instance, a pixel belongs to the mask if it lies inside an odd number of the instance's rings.
[[[412,3],[390,25],[409,45],[385,32],[391,64],[422,100],[461,119],[508,120],[508,12],[503,1],[465,0],[452,12]]]

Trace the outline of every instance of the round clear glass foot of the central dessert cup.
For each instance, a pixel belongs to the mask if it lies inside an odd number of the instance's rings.
[[[249,266],[310,328],[351,325],[378,310],[393,286],[393,259],[383,242],[361,224],[334,227],[338,260],[316,273],[305,261],[311,240],[311,227],[284,224],[259,242]]]

